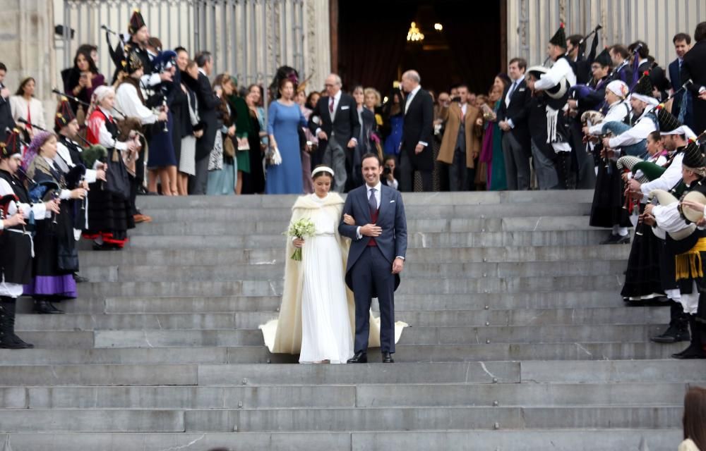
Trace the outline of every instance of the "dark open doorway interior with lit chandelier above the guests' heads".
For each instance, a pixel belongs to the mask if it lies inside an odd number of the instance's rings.
[[[333,61],[346,88],[361,84],[388,92],[404,70],[416,69],[426,89],[439,92],[466,82],[472,91],[486,92],[503,63],[501,4],[503,0],[337,0]],[[412,22],[424,34],[423,41],[407,41]],[[441,31],[435,30],[436,23],[443,26]]]

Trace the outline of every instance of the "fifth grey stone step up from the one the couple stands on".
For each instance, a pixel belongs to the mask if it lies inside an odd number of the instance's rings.
[[[273,280],[180,280],[174,282],[102,282],[82,283],[84,297],[215,297],[282,295],[282,276]],[[396,295],[476,295],[483,293],[560,292],[568,290],[610,290],[622,288],[621,276],[558,276],[510,278],[402,278]]]

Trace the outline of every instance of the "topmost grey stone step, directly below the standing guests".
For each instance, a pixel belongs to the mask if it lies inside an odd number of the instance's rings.
[[[405,205],[486,205],[486,204],[571,204],[591,202],[593,190],[569,191],[478,191],[478,192],[405,192],[402,199]],[[155,197],[139,196],[137,204],[141,209],[174,209],[209,207],[212,209],[258,208],[290,209],[297,200],[295,194],[268,194],[266,196],[189,196]],[[345,199],[346,194],[342,197]]]

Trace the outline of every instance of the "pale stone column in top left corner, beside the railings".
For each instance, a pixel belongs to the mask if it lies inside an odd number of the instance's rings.
[[[58,80],[54,52],[52,0],[0,0],[0,61],[7,66],[5,85],[15,92],[20,81],[37,82],[35,97],[44,103],[47,125],[54,123],[56,99],[52,88]]]

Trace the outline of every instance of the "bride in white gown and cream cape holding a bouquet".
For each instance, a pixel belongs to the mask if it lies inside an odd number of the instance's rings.
[[[344,202],[339,194],[329,192],[331,168],[318,166],[311,177],[314,193],[297,199],[290,223],[309,219],[316,235],[287,241],[280,316],[260,328],[270,352],[299,354],[299,363],[345,364],[354,354],[355,306],[343,279],[349,242],[338,233]],[[295,247],[302,249],[301,261],[289,258]],[[407,324],[395,326],[398,340]],[[370,347],[376,346],[380,346],[380,320],[371,317]]]

